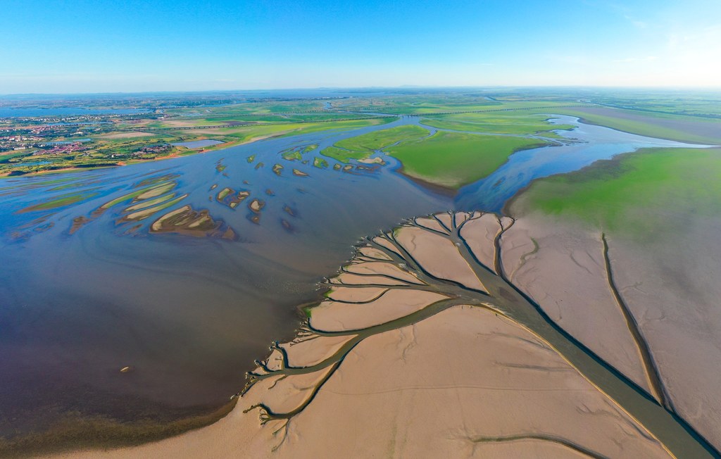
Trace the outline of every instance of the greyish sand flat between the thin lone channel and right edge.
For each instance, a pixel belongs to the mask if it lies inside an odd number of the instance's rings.
[[[674,408],[721,447],[721,219],[694,220],[647,247],[612,237],[609,254]]]

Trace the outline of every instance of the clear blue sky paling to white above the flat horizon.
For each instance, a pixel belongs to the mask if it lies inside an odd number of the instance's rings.
[[[721,85],[720,0],[3,0],[0,94]]]

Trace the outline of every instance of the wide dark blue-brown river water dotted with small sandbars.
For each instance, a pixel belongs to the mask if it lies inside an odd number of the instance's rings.
[[[43,431],[68,414],[165,422],[211,411],[242,388],[273,339],[292,336],[297,306],[318,299],[316,283],[359,238],[415,215],[498,210],[534,177],[616,153],[683,146],[580,125],[563,134],[574,143],[516,153],[456,197],[397,174],[385,156],[386,166],[313,166],[342,138],[418,122],[1,179],[0,436]],[[283,159],[294,150],[309,162]],[[217,230],[156,228],[186,205],[196,223],[207,211]]]

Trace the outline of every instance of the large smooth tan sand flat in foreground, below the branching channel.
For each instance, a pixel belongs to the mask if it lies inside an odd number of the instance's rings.
[[[298,388],[318,377],[272,390],[264,381],[255,392],[297,402]],[[551,349],[479,308],[451,308],[359,344],[283,442],[273,435],[280,422],[259,427],[256,411],[242,412],[248,396],[225,419],[180,437],[62,457],[579,457],[562,442],[606,457],[670,457]],[[562,442],[524,438],[532,436]],[[487,441],[512,437],[521,438]]]

